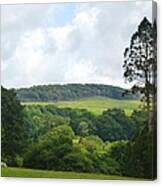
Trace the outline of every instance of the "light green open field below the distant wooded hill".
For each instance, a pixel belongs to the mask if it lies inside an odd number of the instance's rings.
[[[87,109],[94,114],[101,114],[104,110],[111,108],[120,108],[124,109],[127,115],[131,115],[132,111],[139,109],[140,101],[139,100],[117,100],[110,99],[105,97],[89,97],[82,98],[72,101],[59,101],[59,102],[26,102],[25,105],[48,105],[53,104],[60,108],[79,108]]]

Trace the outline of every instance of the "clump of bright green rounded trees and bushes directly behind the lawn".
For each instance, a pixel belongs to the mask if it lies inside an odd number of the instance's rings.
[[[108,157],[101,139],[80,138],[68,125],[54,127],[25,154],[24,166],[75,172],[119,174],[118,163]]]

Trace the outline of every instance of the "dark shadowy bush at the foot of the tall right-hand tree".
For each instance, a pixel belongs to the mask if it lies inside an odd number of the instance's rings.
[[[145,128],[140,136],[131,143],[128,154],[126,175],[153,179],[156,177],[154,170],[154,140],[153,133]]]

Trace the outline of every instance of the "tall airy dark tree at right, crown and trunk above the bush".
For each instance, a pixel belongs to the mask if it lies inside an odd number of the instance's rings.
[[[148,114],[148,128],[153,127],[156,109],[156,24],[145,17],[132,35],[129,48],[124,52],[124,77],[133,83],[132,92],[140,92]]]

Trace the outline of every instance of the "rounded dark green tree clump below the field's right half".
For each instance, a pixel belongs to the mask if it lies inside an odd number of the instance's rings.
[[[122,110],[103,112],[96,122],[96,134],[104,141],[132,139],[139,128]]]

